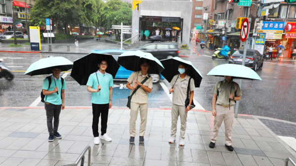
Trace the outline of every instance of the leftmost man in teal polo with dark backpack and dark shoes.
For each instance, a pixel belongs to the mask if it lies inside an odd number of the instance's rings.
[[[53,141],[53,138],[62,138],[62,136],[58,133],[59,122],[60,122],[60,113],[61,109],[65,109],[65,89],[66,82],[63,81],[60,77],[62,67],[56,66],[53,67],[53,74],[50,76],[50,87],[49,80],[46,78],[43,81],[43,94],[44,97],[44,107],[46,111],[47,117],[47,129],[49,133],[48,141]],[[58,92],[58,93],[57,93]],[[52,119],[53,127],[52,127]]]

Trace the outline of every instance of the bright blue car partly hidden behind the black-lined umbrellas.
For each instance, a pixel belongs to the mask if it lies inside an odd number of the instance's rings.
[[[127,50],[116,50],[116,49],[110,49],[110,50],[92,50],[92,53],[98,53],[98,54],[110,54],[114,57],[115,60],[118,59],[118,56],[121,55],[124,52],[127,52]],[[129,78],[129,76],[133,73],[131,70],[127,70],[124,67],[120,66],[118,69],[118,72],[115,76],[115,79],[117,80],[126,80]],[[157,83],[159,80],[163,80],[164,77],[160,74],[150,74],[152,77],[152,82]]]

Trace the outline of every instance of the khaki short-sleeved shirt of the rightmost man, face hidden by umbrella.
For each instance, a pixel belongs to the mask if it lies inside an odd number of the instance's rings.
[[[216,104],[220,104],[220,105],[226,105],[226,106],[229,105],[228,96],[230,94],[230,89],[231,89],[231,94],[233,94],[233,96],[234,96],[235,90],[236,90],[236,97],[243,95],[239,85],[232,81],[229,84],[226,82],[226,80],[216,83],[216,85],[212,89],[212,92],[215,93],[216,95],[217,95],[217,89],[219,89],[219,96],[216,101]],[[230,100],[230,105],[234,105],[234,104],[235,104],[234,100]]]

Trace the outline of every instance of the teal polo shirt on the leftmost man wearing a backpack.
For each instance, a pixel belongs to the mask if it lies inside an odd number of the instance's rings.
[[[64,80],[64,84],[62,85],[61,77],[59,77],[59,79],[56,79],[55,77],[53,77],[53,75],[51,75],[50,78],[51,78],[51,83],[50,83],[49,89],[48,89],[48,79],[47,78],[44,79],[44,81],[43,81],[42,89],[52,91],[52,90],[54,90],[54,88],[57,85],[57,87],[59,89],[59,94],[52,93],[50,95],[46,95],[44,97],[44,101],[54,104],[54,105],[61,105],[62,104],[62,99],[61,99],[62,89],[66,89],[66,81]]]

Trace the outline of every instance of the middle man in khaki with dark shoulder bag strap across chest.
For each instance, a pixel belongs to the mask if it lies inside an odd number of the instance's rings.
[[[130,143],[135,142],[136,136],[136,120],[138,116],[138,111],[140,108],[140,116],[141,116],[141,125],[139,131],[139,142],[143,143],[144,135],[146,131],[147,124],[147,113],[148,113],[148,93],[152,90],[152,78],[148,76],[148,69],[150,67],[150,63],[148,61],[143,60],[141,65],[141,71],[133,72],[130,77],[127,79],[126,87],[131,89],[131,94],[137,88],[137,86],[141,86],[136,93],[132,96],[131,100],[131,118],[130,118]],[[142,81],[148,77],[148,80],[142,84]]]

